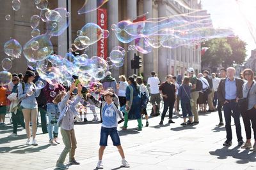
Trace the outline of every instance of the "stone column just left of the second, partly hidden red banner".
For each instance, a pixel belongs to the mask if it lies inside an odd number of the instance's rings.
[[[137,17],[137,0],[127,0],[127,19],[133,21],[134,18]],[[132,43],[127,44],[134,45],[134,41]],[[134,53],[137,53],[136,50],[130,50],[127,52],[127,76],[131,76],[134,74],[133,69],[131,69],[131,60],[134,59]]]

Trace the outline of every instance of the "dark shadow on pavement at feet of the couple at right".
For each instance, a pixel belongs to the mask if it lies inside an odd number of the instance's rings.
[[[217,159],[227,159],[227,157],[233,157],[237,160],[237,164],[247,164],[248,162],[256,162],[256,153],[250,152],[249,149],[244,149],[243,152],[239,152],[238,150],[240,146],[236,146],[235,148],[229,149],[230,147],[224,146],[221,149],[217,149],[215,151],[209,152],[211,155],[218,156]],[[250,152],[250,153],[249,153]]]

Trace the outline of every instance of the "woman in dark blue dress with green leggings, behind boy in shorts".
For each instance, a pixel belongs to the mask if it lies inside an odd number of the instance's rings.
[[[123,130],[127,129],[128,119],[135,118],[138,121],[138,131],[142,131],[141,122],[141,99],[140,99],[140,86],[134,80],[134,77],[129,76],[128,78],[129,86],[127,86],[125,95],[126,103],[124,110],[124,126]]]

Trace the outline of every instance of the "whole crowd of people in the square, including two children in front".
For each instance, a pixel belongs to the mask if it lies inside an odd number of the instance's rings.
[[[79,164],[74,159],[76,150],[74,122],[87,122],[86,113],[90,109],[93,113],[92,121],[102,123],[97,167],[103,168],[102,155],[107,146],[108,136],[111,136],[113,145],[118,148],[122,157],[122,165],[129,167],[120,143],[118,124],[124,122],[122,130],[125,131],[128,121],[136,119],[138,131],[142,131],[141,117],[145,116],[145,127],[148,127],[148,118],[160,115],[160,104],[163,100],[163,112],[159,125],[164,124],[167,111],[169,113],[168,124],[175,123],[172,117],[176,114],[183,118],[180,125],[187,126],[199,124],[200,113],[218,110],[220,118],[218,126],[224,125],[222,112],[225,118],[227,140],[223,145],[232,145],[231,118],[234,118],[238,145],[241,148],[252,148],[251,150],[256,152],[254,73],[252,69],[244,69],[240,78],[235,77],[235,74],[236,69],[228,67],[220,69],[220,73],[211,73],[211,76],[207,70],[196,75],[194,69],[190,67],[185,74],[166,75],[166,81],[162,83],[154,71],[147,81],[134,74],[128,78],[121,75],[117,82],[108,71],[102,80],[93,80],[88,87],[82,87],[77,76],[74,76],[75,81],[70,87],[65,87],[60,83],[54,85],[46,83],[44,88],[38,89],[35,84],[40,77],[28,69],[24,77],[22,74],[13,74],[12,83],[0,87],[0,124],[5,125],[6,112],[12,113],[13,133],[8,137],[17,138],[17,127],[20,124],[26,129],[28,138],[26,145],[36,146],[38,145],[36,141],[38,112],[40,112],[42,132],[49,134],[49,145],[60,144],[58,141],[60,127],[65,148],[56,167],[67,169],[68,167],[64,165],[67,153],[70,153],[70,164]],[[147,113],[148,102],[152,104],[150,115]],[[96,112],[95,107],[100,108],[100,113]],[[6,108],[9,110],[7,111]],[[240,115],[243,117],[246,143],[241,135]],[[253,146],[251,124],[255,138]],[[30,126],[32,126],[32,132]]]

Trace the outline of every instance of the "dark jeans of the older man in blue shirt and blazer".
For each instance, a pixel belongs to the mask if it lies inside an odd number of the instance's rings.
[[[228,141],[232,141],[232,129],[231,129],[231,113],[233,112],[234,122],[236,125],[236,136],[237,141],[242,141],[243,137],[241,134],[241,124],[240,124],[240,113],[236,108],[236,101],[230,101],[223,105],[224,117],[226,122],[226,132]]]

